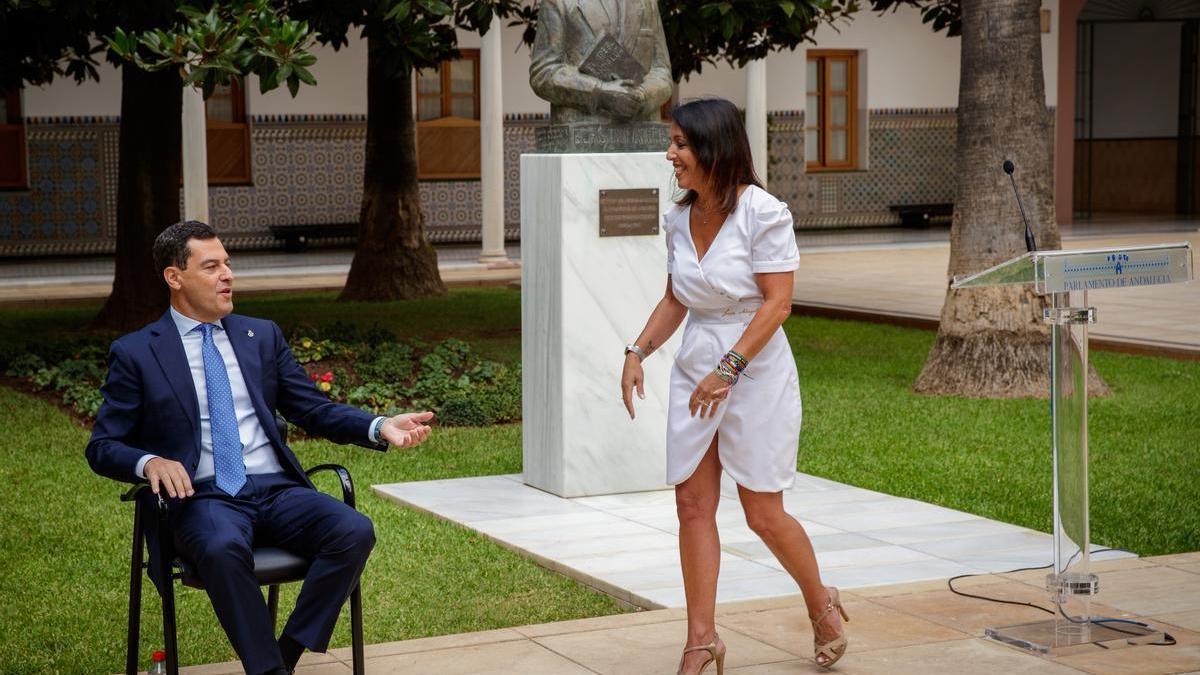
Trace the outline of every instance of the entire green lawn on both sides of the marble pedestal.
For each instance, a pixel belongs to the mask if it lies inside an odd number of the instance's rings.
[[[238,309],[286,329],[301,322],[378,322],[404,338],[462,338],[487,358],[520,354],[520,297],[509,289],[461,289],[385,305],[331,298],[242,299]],[[0,310],[0,348],[77,335],[94,311]],[[786,329],[804,394],[800,471],[1050,528],[1046,401],[912,394],[932,342],[928,331],[812,318],[788,319]],[[1091,402],[1093,540],[1141,555],[1200,549],[1194,452],[1200,363],[1097,352],[1093,358],[1114,390]],[[0,387],[2,673],[122,667],[131,508],[118,501],[119,485],[89,471],[86,438],[86,430],[56,408]],[[619,611],[604,596],[367,489],[517,472],[520,438],[514,425],[438,429],[425,447],[388,454],[296,443],[307,465],[348,466],[360,506],[376,522],[379,543],[364,577],[370,643]],[[232,659],[206,598],[191,590],[181,596],[184,662]],[[156,596],[148,590],[145,598],[149,655],[161,638]],[[284,595],[284,607],[292,598]],[[346,644],[342,626],[335,645]]]

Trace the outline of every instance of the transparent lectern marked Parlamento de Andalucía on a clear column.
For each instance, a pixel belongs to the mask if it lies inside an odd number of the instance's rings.
[[[1055,619],[988,628],[989,638],[1048,653],[1082,643],[1129,638],[1153,640],[1153,631],[1091,615],[1099,580],[1088,572],[1087,522],[1087,325],[1096,310],[1088,291],[1130,288],[1192,280],[1192,245],[1033,251],[965,277],[952,288],[1032,283],[1050,295],[1050,418],[1054,447],[1054,572],[1046,590]],[[1160,633],[1158,633],[1160,635]]]

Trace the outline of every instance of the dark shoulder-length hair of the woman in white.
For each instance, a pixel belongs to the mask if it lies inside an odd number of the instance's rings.
[[[671,119],[688,137],[721,211],[730,213],[737,207],[739,185],[762,187],[754,172],[746,127],[733,103],[725,98],[696,98],[672,108]],[[697,197],[695,190],[688,190],[677,203],[691,205]]]

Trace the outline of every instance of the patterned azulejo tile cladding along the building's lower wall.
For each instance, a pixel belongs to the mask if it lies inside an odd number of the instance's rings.
[[[546,115],[504,123],[505,234],[520,235],[521,155],[533,151]],[[118,123],[37,119],[28,127],[30,189],[0,192],[0,256],[104,253],[116,237]],[[865,171],[808,174],[804,117],[770,118],[770,189],[797,227],[898,222],[892,204],[954,198],[954,112],[872,110]],[[210,217],[230,247],[272,247],[270,226],[350,223],[362,195],[366,120],[361,117],[256,118],[253,185],[210,189]],[[424,181],[426,231],[436,243],[480,239],[478,180]]]

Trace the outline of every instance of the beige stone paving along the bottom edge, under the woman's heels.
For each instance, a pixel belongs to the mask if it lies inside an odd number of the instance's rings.
[[[1186,554],[1195,556],[1196,554]],[[1165,629],[1175,646],[1081,645],[1042,657],[983,638],[984,627],[1038,621],[1032,608],[989,603],[953,595],[946,580],[872,586],[842,595],[850,622],[850,650],[835,673],[913,675],[991,675],[995,673],[1094,675],[1165,675],[1200,670],[1200,573],[1172,556],[1100,561],[1093,571],[1102,586],[1097,613],[1109,617],[1147,621]],[[1200,560],[1200,557],[1193,558]],[[1141,574],[1122,574],[1141,571]],[[1182,611],[1146,616],[1122,603],[1157,586],[1157,572],[1172,578]],[[960,581],[971,592],[1001,599],[1022,599],[1045,607],[1037,580],[1001,575]],[[1190,619],[1189,619],[1190,617]],[[1188,622],[1192,621],[1192,625]],[[797,675],[827,673],[811,661],[812,633],[798,596],[727,603],[718,607],[718,632],[728,647],[730,675]],[[497,631],[442,635],[368,645],[366,671],[406,675],[490,673],[587,673],[658,675],[674,673],[685,637],[683,610],[634,611],[595,619],[518,626]],[[349,673],[349,649],[328,655],[306,653],[296,673]],[[240,673],[238,663],[184,668],[185,675]],[[709,674],[713,669],[709,668]]]

